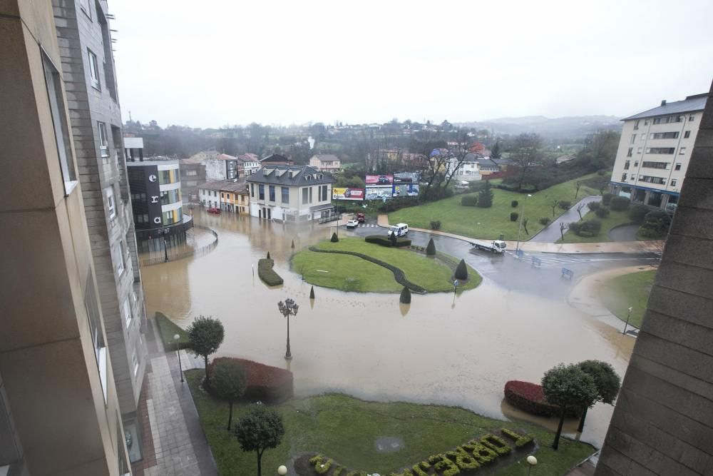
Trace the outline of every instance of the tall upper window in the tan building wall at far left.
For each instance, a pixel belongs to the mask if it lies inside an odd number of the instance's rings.
[[[77,186],[77,176],[72,158],[72,146],[69,141],[69,128],[67,116],[64,113],[64,98],[62,96],[62,83],[59,72],[54,67],[48,56],[42,52],[42,65],[45,74],[45,86],[49,99],[49,108],[52,113],[54,138],[59,156],[59,166],[64,181],[64,195],[68,196]]]

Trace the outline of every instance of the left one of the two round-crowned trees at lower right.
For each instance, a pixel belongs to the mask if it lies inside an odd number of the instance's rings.
[[[545,372],[542,378],[542,390],[548,402],[560,407],[560,423],[557,425],[555,440],[552,442],[553,450],[557,450],[565,415],[593,405],[597,400],[597,386],[594,378],[578,365],[560,364]]]

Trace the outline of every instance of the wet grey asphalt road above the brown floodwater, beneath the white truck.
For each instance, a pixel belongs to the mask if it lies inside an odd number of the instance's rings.
[[[386,228],[375,226],[371,221],[354,230],[341,226],[339,232],[347,236],[386,235]],[[476,250],[470,243],[458,238],[421,231],[409,231],[408,236],[411,243],[419,246],[426,246],[431,237],[436,249],[465,259],[468,265],[483,275],[483,279],[505,290],[556,300],[564,300],[573,283],[583,275],[622,266],[640,265],[646,268],[658,264],[660,260],[660,255],[656,253],[524,253],[523,258],[517,258],[515,250],[506,250],[503,254],[490,253]],[[573,271],[574,277],[563,278],[562,268]]]

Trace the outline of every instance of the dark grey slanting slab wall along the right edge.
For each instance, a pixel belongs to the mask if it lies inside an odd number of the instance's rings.
[[[711,97],[597,476],[713,474]]]

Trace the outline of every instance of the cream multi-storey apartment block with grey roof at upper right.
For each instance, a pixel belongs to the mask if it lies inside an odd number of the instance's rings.
[[[676,209],[707,94],[661,105],[623,119],[612,171],[615,195]]]

